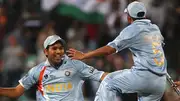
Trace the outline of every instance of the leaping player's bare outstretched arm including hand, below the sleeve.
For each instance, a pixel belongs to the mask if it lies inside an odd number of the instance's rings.
[[[69,49],[67,52],[68,52],[68,56],[71,57],[72,59],[83,60],[83,59],[92,58],[96,56],[110,55],[112,53],[115,53],[116,49],[110,46],[103,46],[101,48],[98,48],[94,51],[90,51],[87,53],[83,53],[75,49]]]

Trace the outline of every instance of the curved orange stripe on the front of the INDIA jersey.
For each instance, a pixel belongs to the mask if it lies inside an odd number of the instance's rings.
[[[42,95],[43,95],[42,79],[43,79],[43,75],[44,75],[45,70],[46,70],[46,66],[44,66],[40,72],[39,79],[38,79],[38,86],[37,86],[38,90],[41,92]]]

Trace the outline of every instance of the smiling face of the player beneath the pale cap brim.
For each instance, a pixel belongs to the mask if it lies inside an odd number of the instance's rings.
[[[64,46],[60,42],[56,42],[45,49],[45,55],[52,64],[59,64],[64,55]]]

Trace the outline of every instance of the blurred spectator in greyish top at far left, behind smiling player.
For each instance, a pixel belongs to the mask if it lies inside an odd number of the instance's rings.
[[[3,63],[5,76],[7,78],[4,86],[12,87],[16,85],[21,77],[24,67],[25,53],[17,43],[15,36],[11,35],[8,37],[8,45],[3,49]]]

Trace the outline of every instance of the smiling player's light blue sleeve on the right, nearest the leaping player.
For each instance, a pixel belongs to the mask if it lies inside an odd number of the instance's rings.
[[[92,66],[89,66],[81,61],[75,60],[73,62],[75,64],[75,68],[77,69],[79,75],[83,79],[91,79],[95,81],[100,81],[101,76],[103,75],[104,71],[99,71]]]

